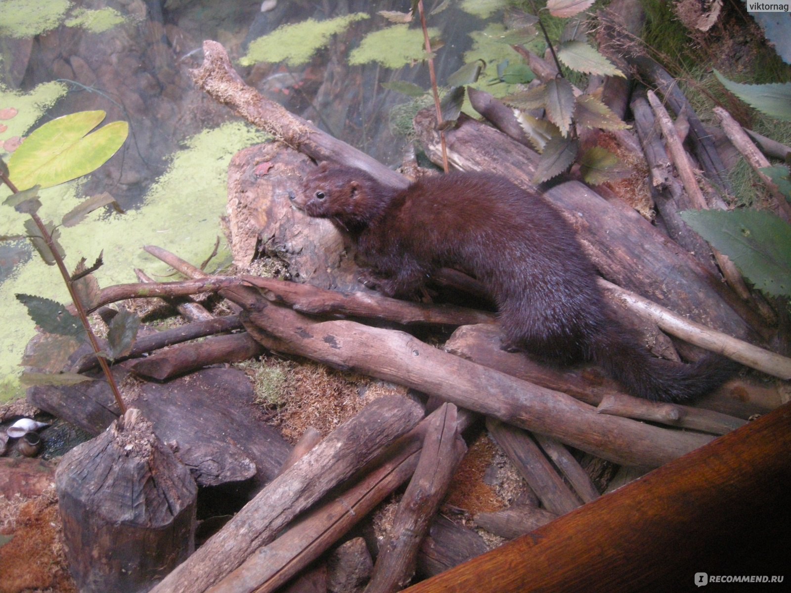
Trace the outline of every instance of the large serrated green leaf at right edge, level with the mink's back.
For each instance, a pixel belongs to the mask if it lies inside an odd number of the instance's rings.
[[[683,221],[771,296],[791,296],[791,225],[763,210],[686,210]]]

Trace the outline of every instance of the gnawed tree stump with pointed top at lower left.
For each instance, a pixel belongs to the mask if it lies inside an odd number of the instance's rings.
[[[197,486],[140,410],[66,453],[55,485],[80,591],[147,591],[195,549]]]

